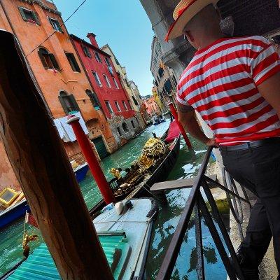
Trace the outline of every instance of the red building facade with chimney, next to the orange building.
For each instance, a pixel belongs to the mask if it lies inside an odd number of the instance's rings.
[[[85,72],[94,89],[92,98],[102,109],[119,145],[139,132],[139,123],[130,106],[127,92],[120,83],[111,56],[99,48],[95,35],[87,34],[91,43],[71,35],[73,44],[85,67]]]

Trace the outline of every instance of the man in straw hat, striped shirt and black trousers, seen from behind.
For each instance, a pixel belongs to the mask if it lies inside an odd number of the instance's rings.
[[[197,49],[178,85],[181,123],[208,146],[219,146],[232,177],[258,197],[237,251],[245,279],[258,279],[272,235],[280,269],[280,59],[266,38],[225,36],[216,2],[181,1],[167,41],[184,34]],[[214,139],[200,130],[195,111]]]

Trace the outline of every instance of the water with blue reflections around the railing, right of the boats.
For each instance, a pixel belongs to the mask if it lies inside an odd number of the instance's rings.
[[[181,140],[179,159],[167,180],[186,179],[197,175],[206,152],[206,147],[196,141],[192,142],[194,143],[194,152],[190,153],[183,139]],[[160,206],[160,214],[158,220],[154,223],[151,248],[148,254],[148,279],[155,279],[158,274],[189,193],[190,189],[172,190],[167,194],[168,205]],[[226,272],[221,257],[216,252],[216,246],[207,225],[205,225],[204,219],[202,219],[202,238],[206,278],[215,280],[226,279]],[[197,279],[196,260],[195,221],[191,218],[171,279]]]

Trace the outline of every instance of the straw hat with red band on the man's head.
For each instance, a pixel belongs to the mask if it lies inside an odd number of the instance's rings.
[[[218,0],[181,0],[174,10],[173,18],[175,22],[170,27],[165,41],[183,35],[183,28],[200,10],[217,2]]]

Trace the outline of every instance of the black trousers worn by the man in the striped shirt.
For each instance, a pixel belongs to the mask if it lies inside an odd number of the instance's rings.
[[[243,265],[258,267],[273,236],[280,272],[280,143],[243,151],[220,150],[230,175],[258,197],[239,247],[245,256]]]

